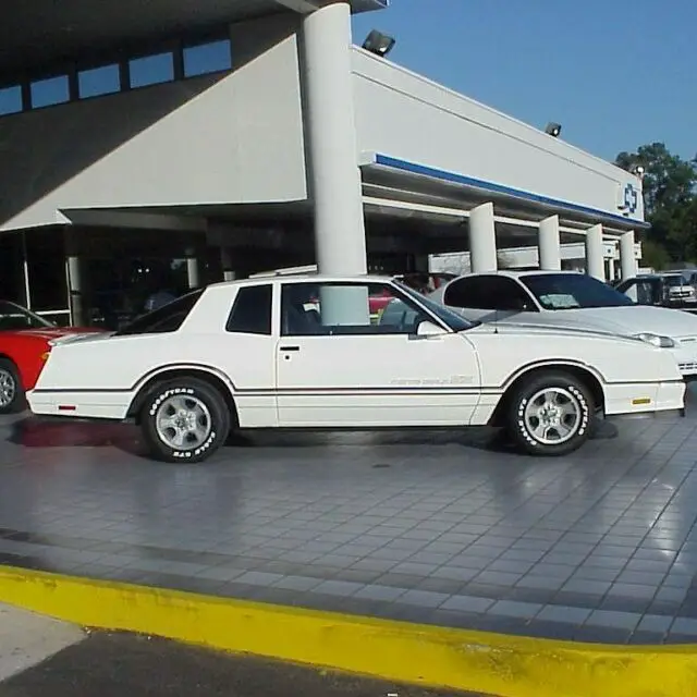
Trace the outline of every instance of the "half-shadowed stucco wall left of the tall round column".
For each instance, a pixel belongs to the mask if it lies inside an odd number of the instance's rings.
[[[294,19],[234,25],[235,70],[0,119],[0,230],[58,211],[306,198]]]

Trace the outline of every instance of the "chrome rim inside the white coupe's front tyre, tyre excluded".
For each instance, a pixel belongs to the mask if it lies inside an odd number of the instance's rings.
[[[523,419],[530,438],[543,445],[559,445],[580,428],[584,411],[578,398],[564,388],[545,388],[525,405]]]

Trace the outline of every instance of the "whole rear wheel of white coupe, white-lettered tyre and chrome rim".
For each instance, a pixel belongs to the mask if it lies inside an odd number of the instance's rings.
[[[198,463],[210,457],[230,432],[222,394],[196,378],[175,378],[145,400],[140,424],[152,455],[166,462]]]

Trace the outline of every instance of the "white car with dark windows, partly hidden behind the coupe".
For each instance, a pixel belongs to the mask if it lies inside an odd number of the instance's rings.
[[[667,350],[685,379],[697,379],[697,316],[637,305],[585,273],[472,273],[450,281],[429,297],[484,322],[585,328],[636,337]]]

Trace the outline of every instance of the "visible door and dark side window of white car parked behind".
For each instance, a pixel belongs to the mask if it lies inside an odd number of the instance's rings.
[[[463,277],[449,283],[443,305],[460,308],[467,319],[484,322],[527,316],[537,307],[526,291],[504,276]]]

